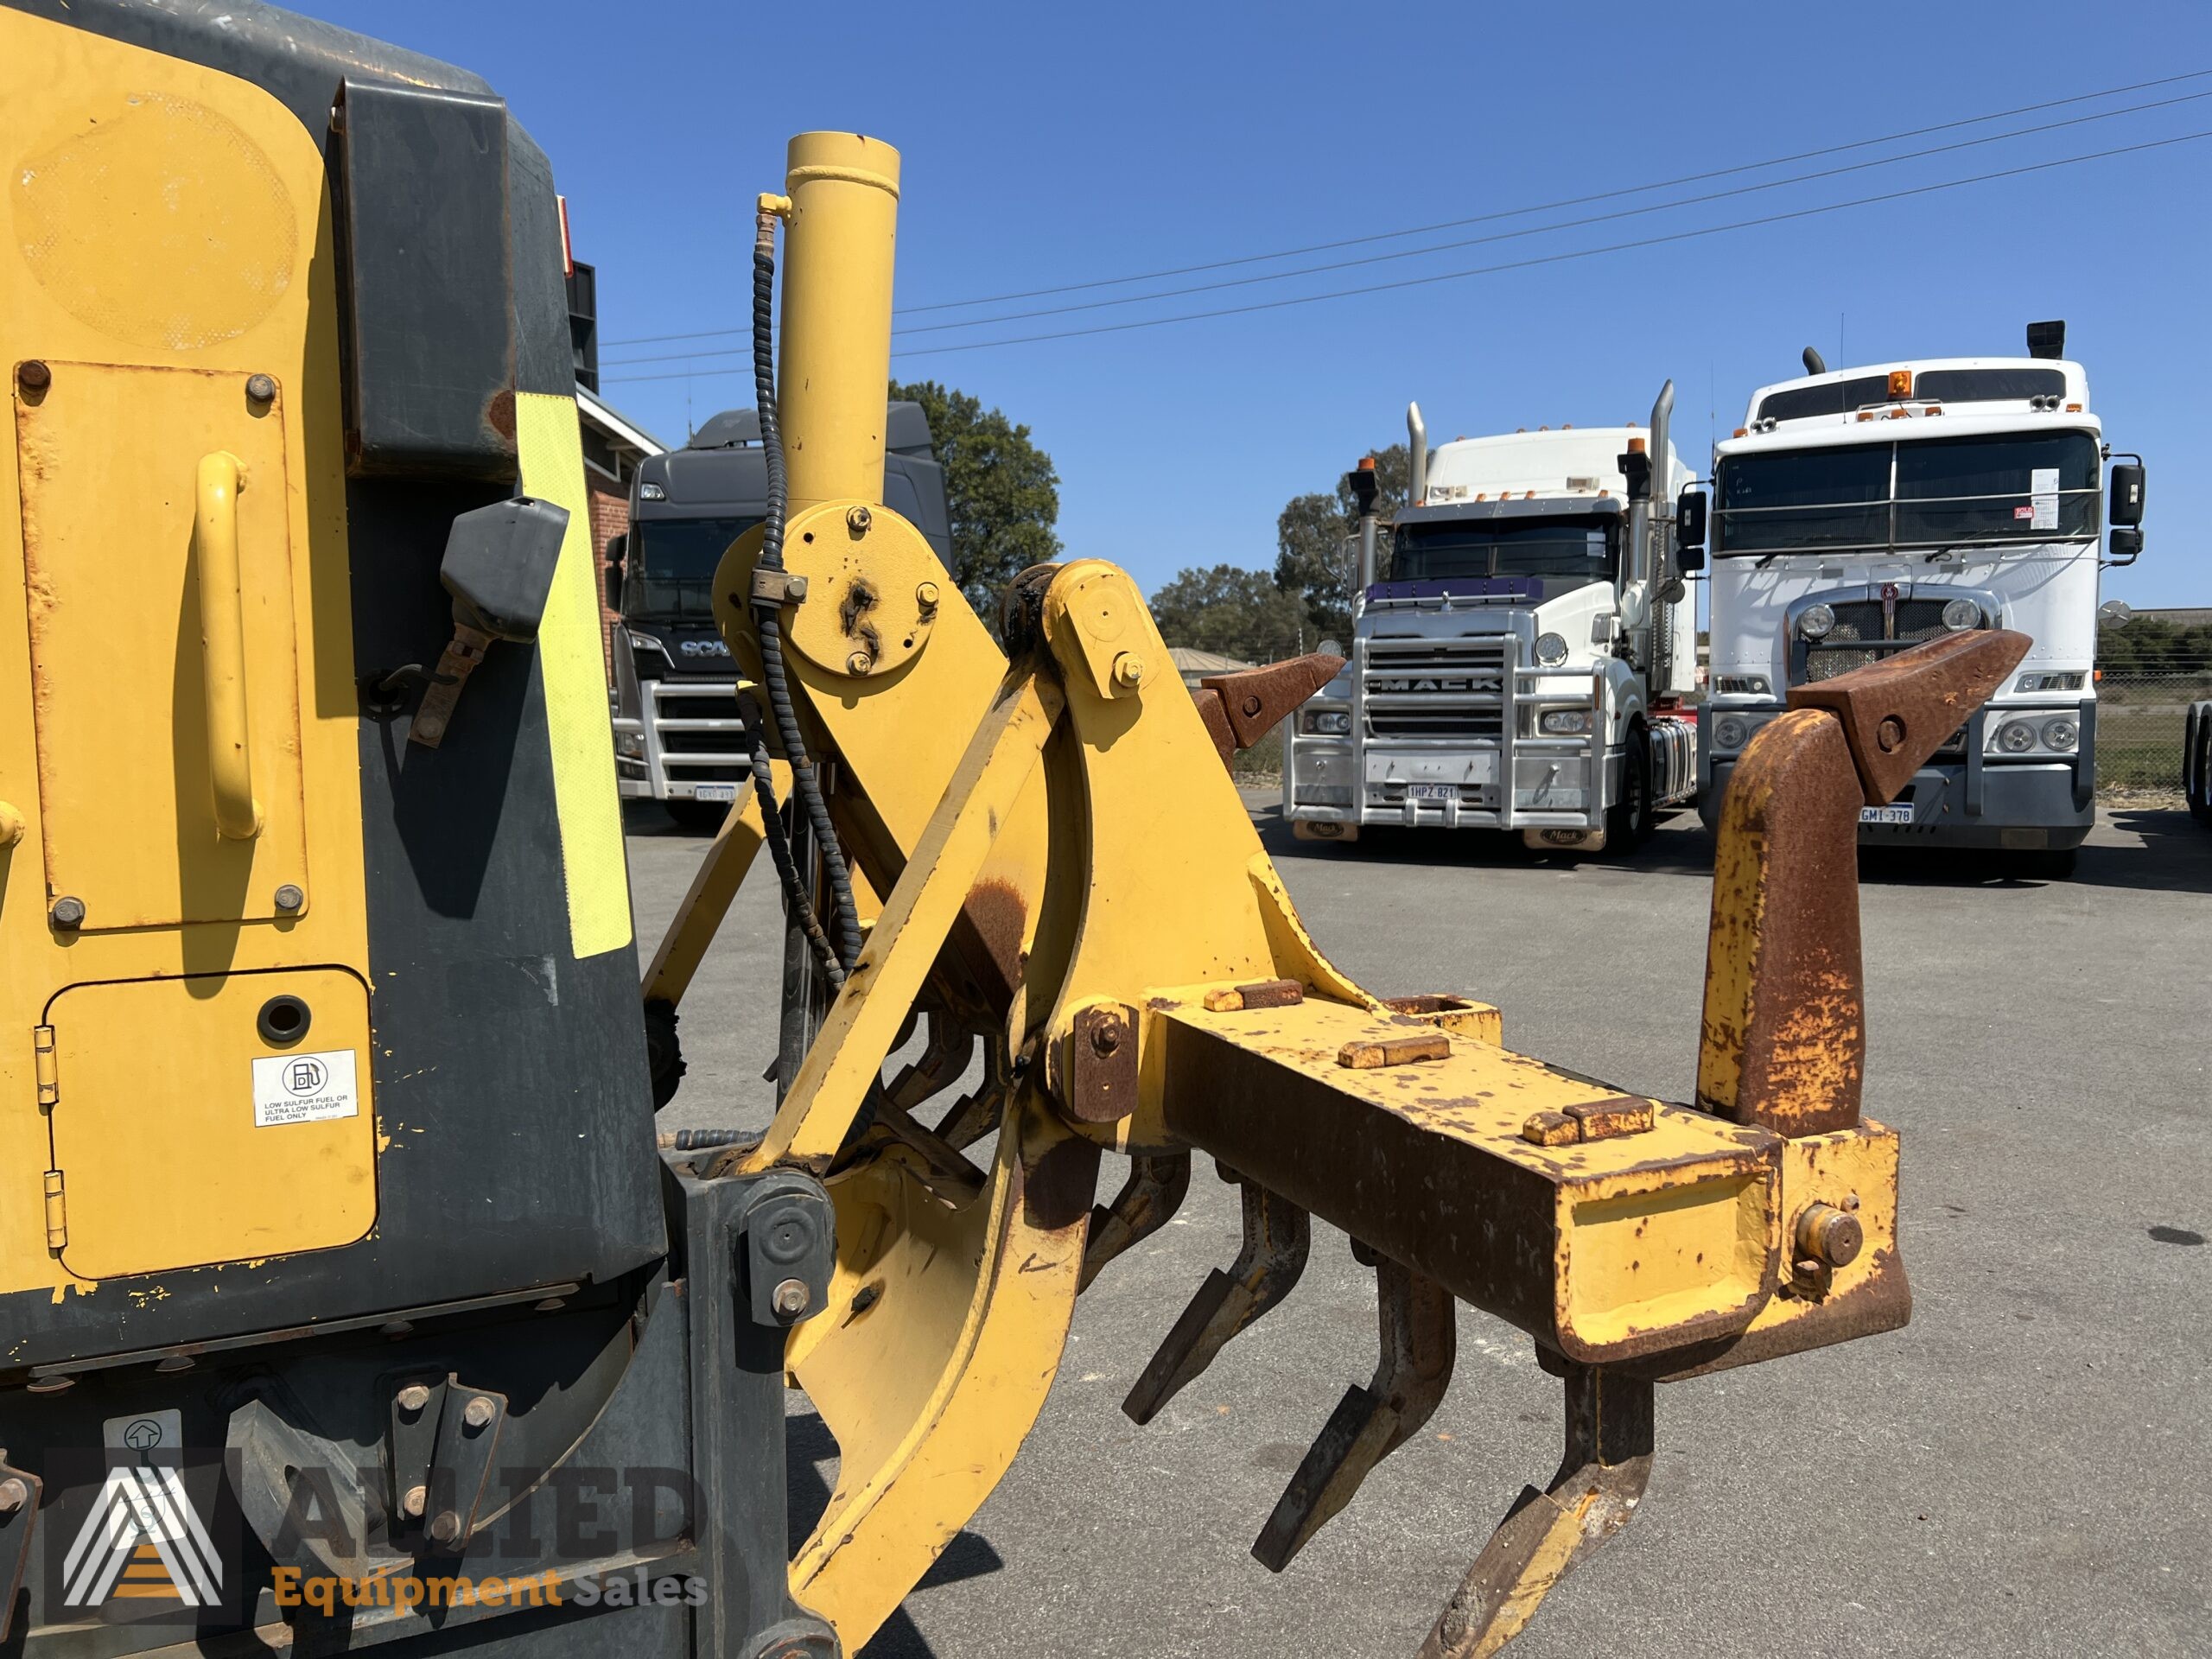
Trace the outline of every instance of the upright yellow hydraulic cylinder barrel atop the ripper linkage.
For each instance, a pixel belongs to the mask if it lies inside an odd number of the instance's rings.
[[[801,133],[783,188],[776,416],[796,518],[814,502],[883,500],[898,150],[860,133]]]

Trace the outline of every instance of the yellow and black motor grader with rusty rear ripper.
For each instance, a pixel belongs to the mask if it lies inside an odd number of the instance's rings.
[[[1697,1102],[1371,995],[1223,765],[1332,666],[1194,699],[1104,560],[987,628],[880,500],[898,155],[801,135],[757,215],[770,513],[714,584],[752,792],[641,998],[544,155],[250,0],[0,0],[0,1652],[858,1652],[1194,1152],[1243,1245],[1133,1418],[1316,1221],[1376,1274],[1265,1566],[1436,1409],[1460,1303],[1559,1378],[1562,1467],[1425,1655],[1626,1524],[1657,1383],[1905,1323],[1856,818],[2017,637],[1745,752]],[[657,1146],[648,1020],[763,847],[774,1121]],[[841,1453],[796,1544],[794,1385]]]

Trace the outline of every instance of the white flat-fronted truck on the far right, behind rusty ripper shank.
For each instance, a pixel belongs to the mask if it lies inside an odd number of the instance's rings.
[[[2070,876],[2097,814],[2097,586],[2143,551],[2141,458],[2115,460],[2062,321],[2031,323],[2022,358],[1829,369],[1807,347],[1805,369],[1752,394],[1710,498],[1677,509],[1683,546],[1712,520],[1705,821],[1792,686],[2011,628],[2035,641],[2020,672],[1860,814],[1860,845]]]

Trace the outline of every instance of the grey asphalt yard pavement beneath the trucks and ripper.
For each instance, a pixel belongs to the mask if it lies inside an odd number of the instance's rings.
[[[1632,863],[1486,836],[1294,843],[1252,799],[1323,949],[1369,989],[1462,991],[1506,1042],[1688,1099],[1712,843]],[[641,949],[706,843],[630,823]],[[1973,854],[1863,872],[1867,1113],[1905,1135],[1900,1332],[1659,1394],[1635,1522],[1509,1650],[1588,1655],[2212,1652],[2212,832],[2099,818],[2066,883]],[[750,883],[686,1000],[672,1126],[765,1121],[781,918]],[[1281,1577],[1250,1557],[1305,1444],[1374,1369],[1374,1281],[1316,1228],[1290,1301],[1148,1427],[1121,1396],[1237,1248],[1206,1161],[1172,1225],[1082,1298],[1011,1473],[867,1659],[1411,1655],[1526,1482],[1557,1383],[1460,1310],[1458,1376]],[[1119,1183],[1113,1159],[1106,1192]],[[801,1524],[836,1449],[792,1416]]]

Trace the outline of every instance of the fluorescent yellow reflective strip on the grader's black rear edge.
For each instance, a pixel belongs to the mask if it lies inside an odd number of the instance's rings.
[[[584,956],[630,945],[630,878],[622,852],[622,801],[615,794],[615,728],[606,708],[606,657],[599,646],[599,584],[591,566],[591,498],[584,493],[584,440],[575,398],[515,396],[522,489],[568,509],[568,535],[538,626],[538,672],[546,688],[553,739],[553,807],[568,883],[568,947]]]

